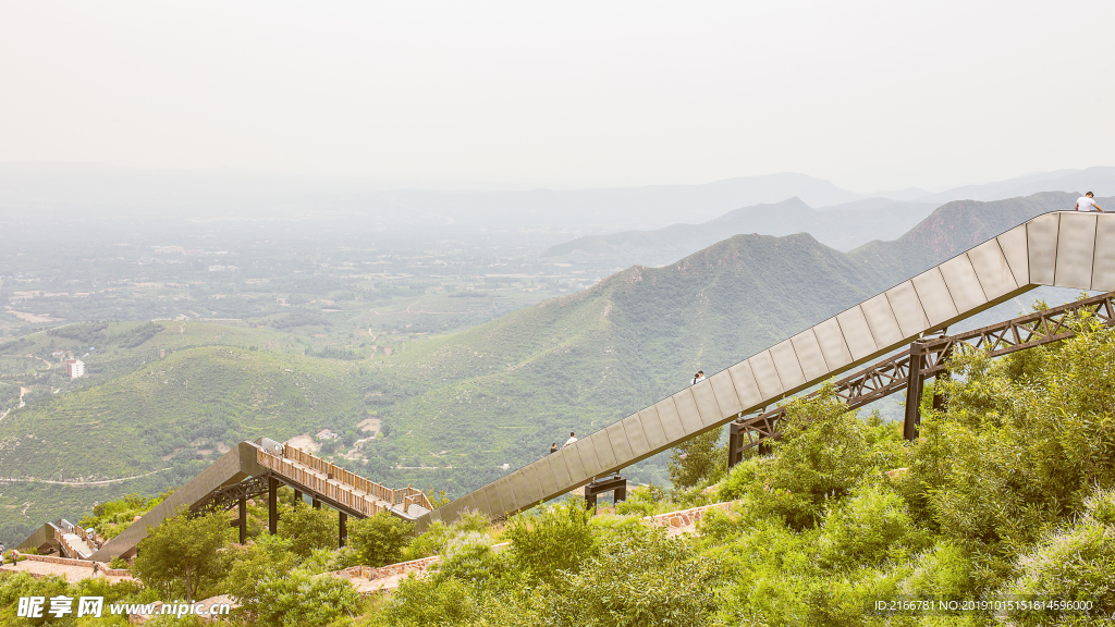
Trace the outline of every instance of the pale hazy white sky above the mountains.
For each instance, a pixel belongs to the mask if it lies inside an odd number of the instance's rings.
[[[1115,165],[1115,2],[0,0],[0,163],[495,185]]]

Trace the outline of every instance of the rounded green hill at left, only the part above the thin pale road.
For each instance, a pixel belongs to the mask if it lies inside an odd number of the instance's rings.
[[[98,480],[165,467],[190,443],[302,433],[323,417],[355,419],[343,364],[225,347],[191,348],[78,394],[14,411],[0,423],[4,475]]]

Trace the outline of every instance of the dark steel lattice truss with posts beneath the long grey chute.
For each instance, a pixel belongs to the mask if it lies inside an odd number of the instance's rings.
[[[1104,325],[1115,326],[1113,299],[1115,292],[1107,292],[962,334],[922,338],[906,350],[884,357],[837,380],[836,396],[849,409],[855,409],[904,389],[906,412],[903,433],[913,440],[921,421],[919,404],[922,386],[925,379],[948,376],[947,361],[957,346],[967,345],[998,357],[1073,337],[1075,334],[1068,322],[1075,316],[1092,316]],[[944,397],[934,390],[933,407],[943,409],[944,404]],[[780,436],[780,423],[785,416],[786,409],[777,407],[733,422],[728,432],[728,465],[739,463],[749,448],[758,447],[760,453],[767,452],[770,438]]]

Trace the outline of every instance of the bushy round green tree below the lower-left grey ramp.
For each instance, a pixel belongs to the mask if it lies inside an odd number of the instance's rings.
[[[193,602],[203,585],[223,577],[232,528],[224,512],[190,518],[185,511],[147,531],[132,571],[144,585]]]

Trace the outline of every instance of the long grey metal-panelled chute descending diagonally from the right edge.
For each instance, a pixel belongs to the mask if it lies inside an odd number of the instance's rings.
[[[1039,215],[641,412],[425,514],[513,514],[1038,286],[1115,290],[1115,215]]]

